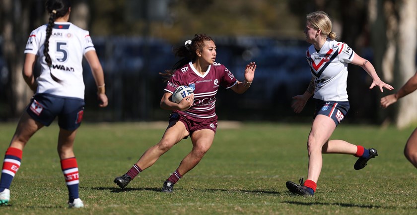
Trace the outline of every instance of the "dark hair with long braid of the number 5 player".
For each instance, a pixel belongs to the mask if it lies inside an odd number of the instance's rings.
[[[49,38],[52,35],[52,29],[54,28],[54,22],[57,18],[63,17],[68,13],[71,3],[70,0],[48,0],[45,3],[46,11],[49,13],[49,22],[46,27],[46,38],[44,43],[44,52],[45,61],[49,67],[52,66],[51,56],[49,52]],[[52,74],[51,74],[52,75]]]

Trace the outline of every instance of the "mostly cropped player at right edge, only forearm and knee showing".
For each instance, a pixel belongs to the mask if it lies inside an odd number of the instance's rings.
[[[398,90],[397,93],[381,98],[381,106],[387,108],[399,99],[417,90],[417,72]],[[404,155],[417,168],[417,128],[407,140]]]

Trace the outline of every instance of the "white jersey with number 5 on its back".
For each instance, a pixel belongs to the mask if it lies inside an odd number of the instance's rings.
[[[52,66],[48,67],[43,54],[47,25],[33,30],[26,44],[25,54],[36,54],[41,65],[37,93],[84,99],[82,57],[94,51],[89,32],[70,22],[55,22],[49,38],[49,55]],[[55,81],[53,76],[59,81]]]

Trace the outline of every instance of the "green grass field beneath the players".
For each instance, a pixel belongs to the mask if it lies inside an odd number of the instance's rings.
[[[22,165],[11,184],[11,200],[1,215],[16,214],[416,214],[417,170],[403,148],[413,128],[342,124],[332,139],[378,150],[361,170],[356,158],[324,155],[315,197],[289,193],[287,180],[307,175],[307,124],[219,123],[214,144],[197,167],[174,187],[159,192],[164,181],[191,150],[181,141],[124,190],[113,179],[124,174],[150,146],[165,124],[84,123],[75,141],[84,209],[68,209],[68,191],[56,153],[58,126],[43,128],[23,151]],[[1,157],[15,123],[0,124]]]

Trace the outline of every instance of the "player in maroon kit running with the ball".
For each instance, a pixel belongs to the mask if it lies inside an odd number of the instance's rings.
[[[126,174],[114,179],[121,188],[126,187],[142,170],[150,167],[176,143],[190,136],[193,149],[162,187],[162,192],[172,192],[174,184],[201,161],[213,143],[217,128],[214,109],[217,90],[226,88],[236,93],[244,93],[250,87],[255,74],[256,64],[251,62],[246,65],[245,80],[236,80],[224,65],[215,62],[214,41],[203,34],[195,35],[193,40],[177,48],[175,55],[182,58],[174,65],[173,70],[163,74],[168,83],[160,103],[161,108],[172,110],[169,125],[159,143],[150,147]],[[191,87],[194,94],[177,104],[171,101],[171,97],[181,85]]]

